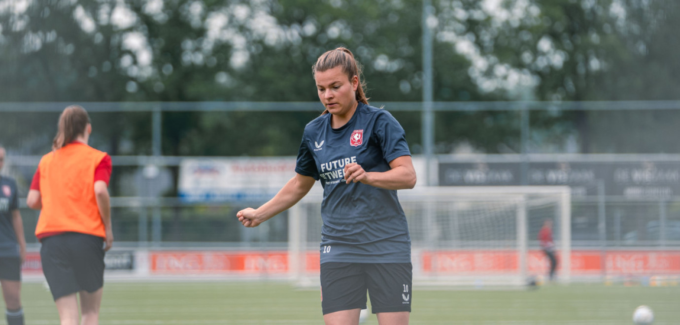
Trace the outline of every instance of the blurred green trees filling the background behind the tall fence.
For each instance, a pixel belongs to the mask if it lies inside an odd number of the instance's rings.
[[[318,101],[311,65],[337,46],[350,48],[364,65],[371,101],[422,98],[421,1],[12,3],[0,10],[4,102]],[[432,6],[435,101],[677,99],[677,1],[439,0]],[[12,150],[48,148],[34,143],[52,137],[52,114],[1,114],[0,139]],[[163,154],[294,154],[292,143],[314,115],[164,114]],[[516,115],[438,114],[437,152],[460,143],[517,152]],[[581,152],[677,152],[668,141],[610,141],[602,129],[625,130],[638,117],[612,125],[599,116],[534,112],[531,139],[549,142],[534,142],[531,150],[560,151],[574,137]],[[664,124],[668,116],[650,119]],[[419,120],[403,121],[409,141],[420,141]],[[673,131],[667,124],[660,133]],[[95,124],[95,135],[109,153],[150,154],[149,129],[148,114],[116,113]]]

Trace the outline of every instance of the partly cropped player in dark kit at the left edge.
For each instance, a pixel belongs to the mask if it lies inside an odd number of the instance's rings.
[[[5,165],[6,154],[5,148],[0,146],[0,171]],[[26,240],[16,182],[0,175],[0,284],[8,325],[24,324],[24,310],[21,308],[21,264],[24,258]]]

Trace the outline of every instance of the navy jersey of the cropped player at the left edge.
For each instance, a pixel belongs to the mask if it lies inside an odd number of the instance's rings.
[[[12,211],[19,208],[16,182],[6,176],[0,177],[0,257],[18,257],[19,244],[12,225]]]

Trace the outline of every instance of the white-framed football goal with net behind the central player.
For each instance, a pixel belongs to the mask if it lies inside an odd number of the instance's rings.
[[[547,273],[537,233],[553,220],[558,281],[571,280],[568,186],[436,186],[398,191],[411,235],[413,282],[420,285],[524,285]],[[321,196],[288,213],[292,281],[318,284]]]

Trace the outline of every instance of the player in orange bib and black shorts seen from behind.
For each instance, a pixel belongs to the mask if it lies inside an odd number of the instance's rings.
[[[104,284],[104,254],[111,248],[107,189],[111,157],[87,145],[90,117],[80,106],[59,116],[52,152],[42,157],[27,205],[41,209],[35,236],[62,325],[98,324]]]

